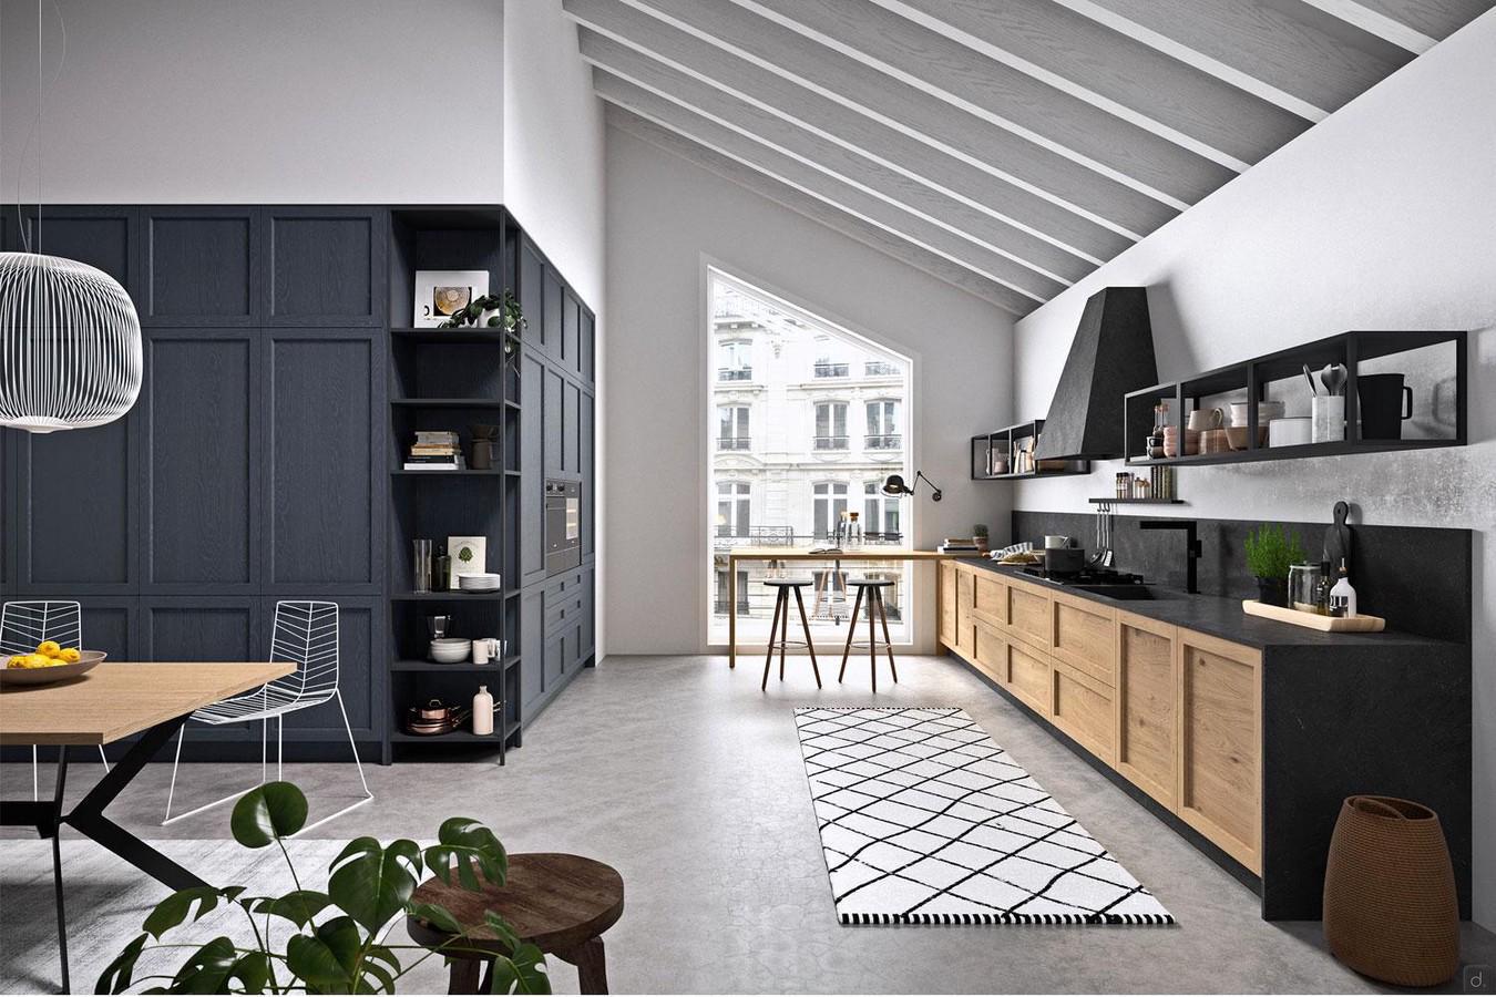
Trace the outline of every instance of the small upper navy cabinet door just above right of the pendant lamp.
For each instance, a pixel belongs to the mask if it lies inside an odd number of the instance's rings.
[[[144,208],[135,299],[147,326],[257,326],[263,315],[260,209]]]

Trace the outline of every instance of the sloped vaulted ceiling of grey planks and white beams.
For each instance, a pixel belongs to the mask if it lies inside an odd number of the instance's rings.
[[[609,123],[1016,315],[1492,0],[562,0]]]

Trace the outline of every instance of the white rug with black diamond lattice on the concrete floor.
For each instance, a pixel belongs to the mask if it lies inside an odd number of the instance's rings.
[[[842,924],[1173,924],[959,707],[799,707]]]

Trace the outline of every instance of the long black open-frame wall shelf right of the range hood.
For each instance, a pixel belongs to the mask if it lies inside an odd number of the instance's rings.
[[[1126,463],[1129,466],[1152,465],[1213,465],[1213,463],[1246,463],[1255,460],[1302,460],[1305,457],[1334,457],[1357,453],[1378,453],[1391,450],[1427,450],[1432,447],[1463,447],[1469,432],[1468,417],[1468,357],[1465,332],[1342,332],[1334,336],[1306,342],[1278,353],[1269,353],[1242,363],[1206,371],[1191,378],[1165,381],[1138,392],[1128,392],[1123,401],[1123,439],[1126,441]],[[1448,353],[1442,363],[1421,363],[1420,375],[1424,381],[1423,390],[1432,392],[1439,405],[1444,425],[1450,427],[1444,436],[1420,436],[1412,439],[1363,439],[1357,395],[1357,378],[1367,374],[1387,374],[1385,369],[1361,369],[1363,363],[1411,354],[1427,350],[1444,350]],[[1426,357],[1427,359],[1427,357]],[[1258,445],[1258,405],[1270,396],[1284,401],[1294,399],[1302,404],[1299,410],[1309,408],[1303,399],[1306,386],[1303,384],[1303,368],[1318,374],[1327,365],[1343,365],[1346,368],[1345,384],[1345,439],[1325,442],[1308,442],[1288,447]],[[1375,365],[1385,368],[1385,363]],[[1442,374],[1429,375],[1433,366],[1445,368]],[[1453,398],[1448,396],[1453,387]],[[1441,398],[1441,393],[1444,398]],[[1216,407],[1218,404],[1249,402],[1246,447],[1242,450],[1225,450],[1221,453],[1180,454],[1176,457],[1144,457],[1144,441],[1153,429],[1153,405],[1161,401],[1171,404],[1170,419],[1174,420],[1180,438],[1185,435],[1185,420],[1194,408]],[[1291,407],[1293,408],[1293,407]],[[1300,414],[1302,414],[1300,411]]]

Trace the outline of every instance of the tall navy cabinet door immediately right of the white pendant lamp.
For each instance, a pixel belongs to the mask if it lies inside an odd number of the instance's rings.
[[[153,329],[145,341],[141,574],[157,592],[260,581],[260,378],[250,330]]]

